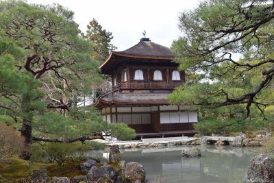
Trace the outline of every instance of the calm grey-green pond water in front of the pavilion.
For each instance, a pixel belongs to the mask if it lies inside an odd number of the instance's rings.
[[[142,164],[151,182],[245,182],[249,160],[258,154],[258,148],[199,147],[201,158],[182,158],[184,147],[122,150],[122,159]],[[93,156],[108,156],[97,151]],[[153,181],[155,180],[155,181]]]

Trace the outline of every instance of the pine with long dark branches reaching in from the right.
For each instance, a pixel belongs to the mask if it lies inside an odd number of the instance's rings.
[[[230,116],[273,118],[266,112],[274,99],[272,7],[264,0],[208,0],[182,12],[182,37],[173,51],[190,80],[171,101],[194,104],[211,117],[218,109]]]

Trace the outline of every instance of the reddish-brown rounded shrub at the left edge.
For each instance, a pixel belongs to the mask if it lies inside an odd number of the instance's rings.
[[[0,162],[23,150],[24,139],[12,127],[0,123]]]

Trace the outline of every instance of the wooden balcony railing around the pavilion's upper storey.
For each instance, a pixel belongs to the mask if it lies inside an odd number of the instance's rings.
[[[112,88],[108,88],[104,90],[100,97],[104,97],[111,93],[115,93],[117,91],[122,90],[174,90],[175,87],[182,85],[182,81],[176,82],[162,82],[162,81],[153,81],[149,82],[147,80],[130,80],[127,82],[119,83]]]

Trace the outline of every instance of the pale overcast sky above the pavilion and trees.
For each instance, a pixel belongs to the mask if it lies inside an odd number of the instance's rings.
[[[199,0],[27,0],[28,3],[59,3],[75,13],[75,22],[82,32],[95,18],[104,29],[112,32],[112,44],[123,51],[136,45],[142,32],[153,42],[171,47],[180,35],[180,12],[197,6]]]

